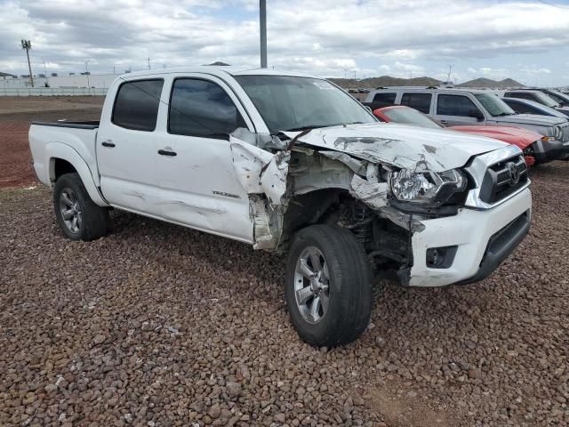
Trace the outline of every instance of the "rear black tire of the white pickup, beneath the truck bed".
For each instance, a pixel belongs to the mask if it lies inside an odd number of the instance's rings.
[[[63,218],[62,194],[65,197],[74,196],[76,211],[73,214],[79,217],[76,230],[68,225],[69,220]],[[65,205],[66,207],[68,205]],[[53,210],[61,231],[72,240],[90,241],[107,235],[108,209],[95,205],[83,185],[78,173],[65,173],[55,182],[53,189]],[[71,220],[73,221],[73,220]]]

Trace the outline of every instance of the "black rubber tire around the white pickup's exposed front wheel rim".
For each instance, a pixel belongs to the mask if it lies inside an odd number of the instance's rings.
[[[295,289],[307,283],[308,279],[297,272],[297,263],[306,251],[313,251],[313,247],[324,257],[323,265],[327,265],[328,271],[327,310],[316,324],[306,318],[306,307],[297,303]],[[356,340],[365,331],[372,313],[373,286],[364,247],[349,230],[323,224],[299,231],[288,256],[285,280],[286,305],[303,341],[319,347],[334,347]],[[309,283],[312,286],[312,282]],[[317,292],[325,291],[317,288]]]

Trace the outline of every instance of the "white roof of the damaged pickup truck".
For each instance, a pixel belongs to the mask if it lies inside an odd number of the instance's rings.
[[[312,77],[312,78],[322,78],[317,76],[310,76],[303,73],[295,73],[293,71],[287,71],[283,69],[274,68],[246,68],[246,67],[216,67],[211,65],[204,65],[199,67],[175,67],[175,68],[157,68],[157,69],[146,69],[144,71],[135,71],[133,73],[123,74],[121,77],[124,79],[132,77],[156,77],[165,74],[209,74],[212,76],[290,76],[290,77]]]

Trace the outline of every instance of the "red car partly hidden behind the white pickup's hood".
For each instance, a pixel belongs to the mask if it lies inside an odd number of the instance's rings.
[[[476,133],[477,135],[517,145],[517,147],[524,151],[525,163],[527,163],[528,166],[535,164],[532,144],[541,140],[541,135],[539,133],[535,133],[527,129],[521,129],[519,127],[477,125],[444,127],[439,125],[429,116],[421,113],[421,111],[417,111],[411,107],[406,107],[405,105],[391,105],[389,107],[375,109],[373,110],[373,115],[379,118],[382,122],[394,122],[404,125],[415,125],[436,129],[452,129],[453,131]]]

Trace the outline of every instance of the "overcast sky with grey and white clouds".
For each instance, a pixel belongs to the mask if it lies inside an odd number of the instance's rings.
[[[569,85],[569,0],[267,0],[268,66],[323,77]],[[557,4],[552,6],[549,4]],[[0,0],[0,71],[257,67],[256,0]]]

